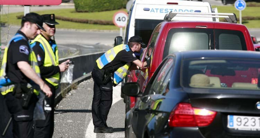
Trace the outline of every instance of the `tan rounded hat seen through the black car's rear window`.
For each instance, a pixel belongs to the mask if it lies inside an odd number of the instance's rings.
[[[205,74],[194,74],[190,78],[191,87],[211,87],[214,84],[209,84],[209,77]]]

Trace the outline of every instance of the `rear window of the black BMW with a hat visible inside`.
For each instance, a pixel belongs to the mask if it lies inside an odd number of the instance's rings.
[[[258,60],[214,58],[183,62],[184,87],[259,90]]]

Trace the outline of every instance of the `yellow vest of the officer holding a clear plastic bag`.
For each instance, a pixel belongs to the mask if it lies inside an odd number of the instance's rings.
[[[35,43],[35,42],[39,42],[42,44],[43,46],[43,50],[45,52],[45,58],[44,58],[44,64],[43,66],[45,67],[49,67],[49,66],[58,66],[59,65],[59,57],[58,57],[58,50],[57,50],[57,47],[55,49],[55,55],[54,55],[54,52],[51,48],[51,45],[50,43],[44,38],[42,37],[41,34],[39,34],[35,39],[34,41],[31,42],[32,43]],[[52,76],[49,76],[49,77],[44,77],[44,79],[50,83],[51,85],[53,85],[54,87],[58,87],[58,84],[59,84],[59,81],[60,81],[60,73],[56,73]]]

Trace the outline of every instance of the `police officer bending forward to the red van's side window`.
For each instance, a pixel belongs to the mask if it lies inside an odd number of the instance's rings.
[[[112,86],[116,86],[123,81],[131,63],[133,63],[133,66],[131,66],[133,69],[137,69],[137,66],[146,66],[146,62],[142,63],[134,54],[134,52],[140,52],[141,45],[144,45],[142,38],[133,36],[129,39],[127,45],[121,44],[113,47],[96,60],[96,65],[92,70],[94,80],[92,100],[94,133],[113,132],[113,128],[108,127],[106,123],[112,105]]]

